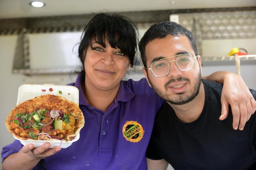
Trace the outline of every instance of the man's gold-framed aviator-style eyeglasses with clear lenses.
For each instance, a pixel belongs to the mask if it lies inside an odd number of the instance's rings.
[[[195,58],[191,53],[186,54],[180,54],[180,55],[174,55],[172,57],[175,57],[174,63],[181,71],[191,70],[194,67]],[[154,61],[151,63],[150,68],[146,68],[148,70],[151,70],[151,72],[156,77],[163,77],[169,74],[170,72],[170,63],[172,61],[167,61],[166,59],[172,58],[167,57],[164,59],[160,59],[158,61]]]

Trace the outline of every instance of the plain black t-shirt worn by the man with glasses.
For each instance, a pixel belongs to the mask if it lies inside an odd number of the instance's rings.
[[[222,84],[202,80],[204,109],[182,123],[167,103],[156,115],[147,157],[165,159],[175,170],[256,170],[256,113],[244,130],[234,130],[232,113],[220,121]],[[256,91],[251,90],[254,98]]]

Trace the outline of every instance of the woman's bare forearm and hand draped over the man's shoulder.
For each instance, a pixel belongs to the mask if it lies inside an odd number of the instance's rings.
[[[224,120],[228,116],[228,105],[230,104],[233,114],[233,128],[238,129],[239,127],[239,130],[243,130],[246,121],[256,111],[256,101],[242,77],[232,72],[218,71],[202,78],[223,84],[220,120]]]

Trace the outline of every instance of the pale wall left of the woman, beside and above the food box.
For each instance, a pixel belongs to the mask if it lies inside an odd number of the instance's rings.
[[[16,47],[17,36],[0,36],[0,149],[5,145],[12,143],[14,138],[7,131],[5,119],[10,111],[16,106],[18,88],[22,84],[56,84],[65,85],[74,82],[76,77],[64,75],[38,75],[25,76],[22,74],[12,74],[12,64]],[[2,170],[2,165],[0,167]]]

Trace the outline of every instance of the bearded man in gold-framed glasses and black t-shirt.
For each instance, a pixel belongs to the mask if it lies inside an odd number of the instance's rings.
[[[256,169],[256,114],[243,131],[232,128],[231,109],[219,120],[222,84],[201,79],[191,32],[171,21],[156,23],[139,48],[148,84],[166,100],[156,115],[148,169],[166,170],[168,163],[175,170]]]

